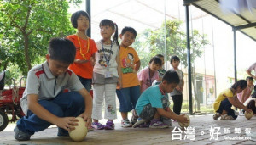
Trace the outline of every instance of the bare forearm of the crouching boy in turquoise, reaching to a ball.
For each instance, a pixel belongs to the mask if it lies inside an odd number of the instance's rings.
[[[173,120],[177,120],[178,122],[183,122],[186,123],[189,120],[187,120],[186,117],[184,117],[183,115],[177,115],[174,112],[172,112],[171,109],[168,109],[168,111],[166,111],[165,109],[161,109],[161,108],[156,108],[157,112],[161,115],[164,116],[166,118],[169,119],[173,119]]]

